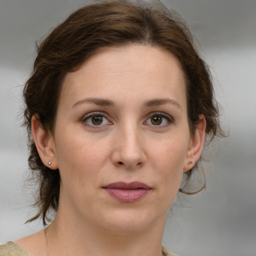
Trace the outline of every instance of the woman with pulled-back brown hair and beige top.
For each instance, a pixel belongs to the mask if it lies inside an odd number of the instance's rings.
[[[50,224],[0,255],[172,255],[167,210],[178,191],[203,189],[191,179],[205,135],[221,134],[180,18],[158,2],[80,8],[38,46],[23,95],[40,185],[29,221]]]

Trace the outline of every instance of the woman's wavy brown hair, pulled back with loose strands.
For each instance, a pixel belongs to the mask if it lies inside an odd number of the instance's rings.
[[[28,133],[29,167],[38,178],[35,206],[43,224],[49,221],[48,212],[58,208],[60,176],[45,166],[31,137],[31,117],[37,114],[42,127],[52,131],[61,83],[65,74],[77,70],[86,58],[98,49],[130,43],[161,47],[179,60],[186,76],[187,113],[193,134],[199,115],[206,119],[206,137],[211,140],[222,131],[218,107],[213,97],[213,86],[207,65],[200,58],[191,33],[177,13],[160,2],[131,3],[104,1],[84,6],[73,12],[37,46],[33,72],[23,90],[25,101],[24,124]],[[184,173],[179,191],[193,193],[205,186],[203,180],[196,191],[189,190],[189,182],[197,165]]]

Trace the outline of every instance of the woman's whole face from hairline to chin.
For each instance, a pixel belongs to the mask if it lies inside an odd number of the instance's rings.
[[[113,230],[164,223],[197,160],[192,146],[175,57],[143,45],[100,50],[62,85],[51,159],[58,213]]]

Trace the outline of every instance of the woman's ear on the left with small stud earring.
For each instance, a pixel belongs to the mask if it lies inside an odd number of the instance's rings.
[[[43,164],[51,169],[57,169],[58,165],[52,134],[50,131],[42,128],[37,114],[34,114],[31,118],[31,131],[37,152]]]

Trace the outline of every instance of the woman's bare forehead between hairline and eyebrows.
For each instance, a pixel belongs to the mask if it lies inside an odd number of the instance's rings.
[[[185,78],[178,60],[161,48],[136,44],[107,47],[66,74],[60,102],[67,98],[70,103],[81,97],[111,98],[115,93],[120,100],[129,95],[145,100],[170,96],[184,101]]]

